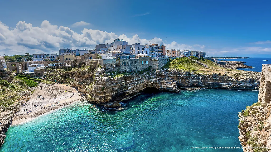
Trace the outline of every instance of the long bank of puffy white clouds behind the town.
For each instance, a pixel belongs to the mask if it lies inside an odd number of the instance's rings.
[[[205,49],[204,45],[199,44],[186,45],[175,41],[166,44],[157,37],[141,39],[137,34],[128,37],[124,34],[116,35],[113,32],[86,28],[81,33],[77,33],[69,27],[52,25],[49,21],[43,21],[40,27],[33,27],[31,23],[19,21],[14,28],[0,21],[0,55],[24,54],[25,52],[51,53],[58,52],[60,47],[93,49],[97,44],[110,44],[116,38],[124,39],[129,45],[156,43],[166,45],[167,49]]]

